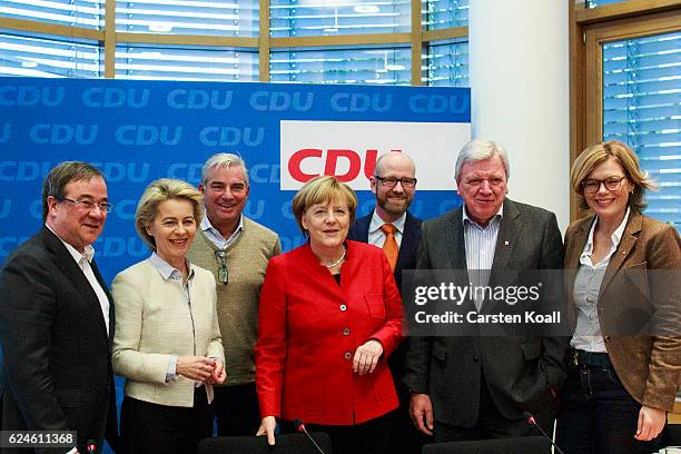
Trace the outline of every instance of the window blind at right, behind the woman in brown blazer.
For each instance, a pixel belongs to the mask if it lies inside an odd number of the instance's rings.
[[[603,46],[603,139],[636,151],[660,189],[645,213],[681,228],[681,32]]]

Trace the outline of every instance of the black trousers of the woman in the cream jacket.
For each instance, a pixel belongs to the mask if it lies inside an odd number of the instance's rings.
[[[209,436],[213,406],[203,386],[194,393],[194,407],[124,398],[120,409],[124,454],[195,454],[198,443]]]

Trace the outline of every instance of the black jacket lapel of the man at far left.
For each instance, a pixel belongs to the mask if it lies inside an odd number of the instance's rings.
[[[68,251],[66,246],[63,246],[61,240],[50,229],[43,227],[40,231],[40,235],[47,248],[55,255],[55,264],[68,278],[68,282],[63,283],[63,285],[66,286],[71,284],[71,286],[75,287],[82,296],[82,299],[86,303],[87,307],[91,310],[90,315],[93,317],[95,320],[97,320],[97,325],[99,326],[103,336],[102,340],[105,340],[105,344],[107,345],[107,347],[109,347],[109,336],[107,335],[107,326],[103,320],[103,315],[101,314],[101,306],[99,305],[99,299],[97,298],[97,294],[92,289],[92,286],[82,273],[82,269],[80,269],[80,267],[78,266],[76,260],[73,260],[73,257]],[[95,264],[95,260],[92,260],[92,264]],[[95,270],[96,268],[92,267],[92,269]],[[99,270],[95,273],[95,276],[105,289],[107,297],[109,297],[109,307],[112,308],[112,299],[110,298],[107,286],[103,284],[103,279],[101,279]],[[109,314],[110,313],[111,310],[109,310]],[[109,322],[110,320],[111,319],[109,319]]]

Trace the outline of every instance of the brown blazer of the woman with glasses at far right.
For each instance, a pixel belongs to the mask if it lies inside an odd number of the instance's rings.
[[[575,273],[570,272],[580,267],[592,224],[593,216],[585,217],[571,224],[565,233],[571,296]],[[618,250],[608,264],[598,302],[605,348],[622,384],[639,403],[668,412],[674,405],[681,373],[679,269],[681,239],[677,230],[632,211]],[[573,305],[572,297],[569,302]],[[635,307],[626,313],[630,303],[635,303]],[[661,316],[672,324],[671,329],[652,326],[649,327],[652,332],[643,335],[626,335],[631,334],[626,333],[629,327],[620,322],[632,322],[636,313],[653,319]]]

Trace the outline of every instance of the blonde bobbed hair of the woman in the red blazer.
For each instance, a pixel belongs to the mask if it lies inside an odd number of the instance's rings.
[[[351,215],[351,224],[355,220],[358,204],[355,191],[336,177],[316,177],[303,185],[293,199],[293,213],[303,235],[307,235],[307,230],[303,227],[305,211],[313,205],[326,201],[345,201]]]

